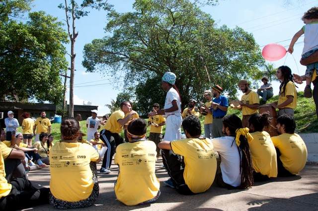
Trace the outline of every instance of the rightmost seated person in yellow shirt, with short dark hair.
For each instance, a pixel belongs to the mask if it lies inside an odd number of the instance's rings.
[[[306,165],[306,144],[295,134],[296,123],[291,115],[284,114],[278,117],[276,127],[281,134],[272,137],[277,153],[278,177],[294,176]]]

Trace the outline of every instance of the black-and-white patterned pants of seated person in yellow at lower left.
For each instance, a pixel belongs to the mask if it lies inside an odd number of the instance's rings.
[[[93,173],[93,191],[91,192],[90,196],[87,199],[80,200],[79,202],[67,202],[60,199],[55,198],[51,192],[50,192],[50,204],[53,205],[56,209],[70,209],[70,208],[85,208],[90,207],[94,204],[96,201],[98,195],[99,195],[99,186],[98,186],[98,180],[97,180],[97,169],[96,169],[96,163],[90,162],[89,167],[91,169],[91,172]]]

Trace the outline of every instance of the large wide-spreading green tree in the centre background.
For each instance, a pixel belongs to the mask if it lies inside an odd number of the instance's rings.
[[[201,99],[211,83],[235,95],[239,79],[251,78],[263,63],[251,34],[238,27],[218,27],[190,0],[136,0],[134,9],[108,14],[105,31],[110,35],[85,45],[82,64],[87,71],[125,72],[125,85],[137,87],[143,111],[149,111],[155,93],[162,94],[165,71],[177,75],[184,107],[189,98]]]

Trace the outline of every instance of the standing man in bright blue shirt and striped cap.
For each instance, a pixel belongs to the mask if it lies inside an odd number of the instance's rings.
[[[213,86],[212,91],[214,97],[211,106],[211,111],[213,113],[212,134],[213,138],[218,138],[223,136],[223,117],[227,115],[229,103],[228,98],[224,95],[221,95],[221,92],[223,91],[221,86]]]

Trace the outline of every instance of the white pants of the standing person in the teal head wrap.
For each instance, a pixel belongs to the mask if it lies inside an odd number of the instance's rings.
[[[164,141],[174,141],[181,139],[181,116],[169,115],[165,120]]]

